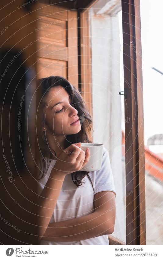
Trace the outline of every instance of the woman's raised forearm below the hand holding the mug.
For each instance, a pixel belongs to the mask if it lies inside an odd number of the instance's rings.
[[[54,208],[56,206],[57,199],[60,194],[60,190],[63,185],[65,175],[59,174],[57,171],[53,171],[49,176],[46,186],[42,190],[40,197],[37,200],[37,215],[39,234],[38,241],[41,239],[45,230],[47,229]]]

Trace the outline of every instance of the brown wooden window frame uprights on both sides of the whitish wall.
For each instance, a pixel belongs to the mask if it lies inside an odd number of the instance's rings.
[[[92,82],[91,82],[91,47],[81,47],[90,44],[89,9],[103,1],[84,1],[78,3],[80,9],[80,82],[81,94],[92,115]],[[143,80],[141,56],[141,24],[140,0],[123,0],[122,30],[123,30],[123,63],[124,63],[124,105],[125,117],[130,118],[125,123],[125,169],[126,169],[126,244],[146,244],[145,215],[145,153],[144,153],[144,122],[143,122]],[[101,6],[102,7],[102,6]],[[82,9],[83,8],[83,9]],[[131,45],[132,44],[132,45]],[[134,48],[133,48],[134,44]],[[130,84],[129,88],[127,81]],[[92,136],[92,133],[90,133]],[[108,236],[110,244],[124,245],[123,242]]]

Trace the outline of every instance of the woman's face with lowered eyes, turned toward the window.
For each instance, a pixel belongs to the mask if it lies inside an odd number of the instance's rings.
[[[44,108],[46,128],[56,134],[77,134],[81,130],[78,111],[71,106],[71,98],[62,86],[52,87],[46,96]],[[62,102],[60,104],[59,103]],[[78,122],[71,125],[72,122]]]

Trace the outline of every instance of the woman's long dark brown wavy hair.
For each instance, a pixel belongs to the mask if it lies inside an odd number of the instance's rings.
[[[46,134],[45,131],[42,131],[42,127],[45,125],[45,116],[43,113],[44,106],[46,103],[43,101],[43,98],[45,98],[50,89],[58,86],[62,86],[67,93],[70,96],[72,106],[77,109],[79,119],[81,118],[81,130],[77,134],[70,134],[67,135],[64,142],[64,149],[66,149],[68,146],[74,143],[92,143],[88,138],[88,133],[92,129],[92,117],[89,113],[88,107],[85,104],[85,101],[83,97],[81,96],[79,90],[73,86],[67,79],[60,77],[60,76],[50,76],[45,77],[37,80],[38,83],[38,92],[40,95],[40,102],[38,107],[38,114],[41,116],[41,122],[38,122],[39,130],[37,132],[38,137],[38,144],[39,144],[39,165],[41,167],[39,174],[41,172],[43,173],[41,178],[42,179],[49,168],[49,164],[53,158],[52,152],[50,152],[51,147],[49,147],[49,144],[47,143]],[[84,120],[83,120],[84,119]],[[39,120],[40,121],[40,120]],[[50,149],[49,149],[50,148]],[[52,149],[53,150],[53,149]],[[53,150],[54,151],[54,150]],[[55,156],[56,152],[54,151]],[[46,160],[45,157],[50,157],[49,162],[46,167]],[[47,158],[47,157],[46,157]],[[83,184],[82,179],[85,176],[88,176],[91,184],[92,180],[89,176],[89,171],[75,171],[71,173],[72,180],[75,183],[77,187],[81,186]],[[93,187],[93,184],[92,184]],[[94,190],[94,188],[93,188]]]

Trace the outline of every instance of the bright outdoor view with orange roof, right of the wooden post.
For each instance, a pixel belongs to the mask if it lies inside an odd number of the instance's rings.
[[[163,244],[162,10],[162,0],[140,0],[147,245]]]

